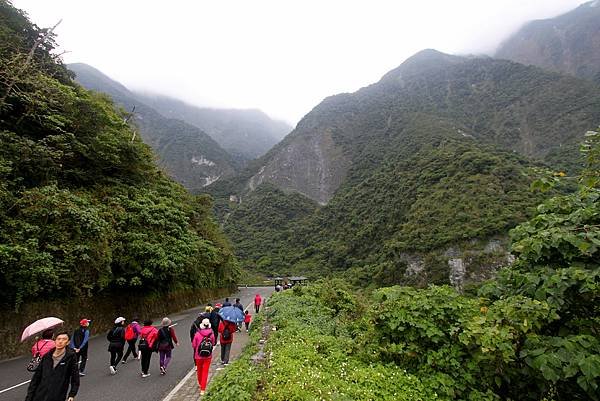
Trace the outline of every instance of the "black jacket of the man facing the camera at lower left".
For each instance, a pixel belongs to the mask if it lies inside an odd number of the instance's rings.
[[[52,360],[54,349],[42,358],[33,374],[25,401],[65,401],[75,397],[79,390],[79,370],[75,352],[67,349],[56,368]],[[69,384],[71,390],[69,391]],[[69,394],[67,395],[67,391]]]

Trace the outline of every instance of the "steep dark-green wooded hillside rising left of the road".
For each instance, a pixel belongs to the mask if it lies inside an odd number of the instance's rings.
[[[168,179],[52,36],[0,1],[0,303],[228,287],[237,267],[208,197]]]

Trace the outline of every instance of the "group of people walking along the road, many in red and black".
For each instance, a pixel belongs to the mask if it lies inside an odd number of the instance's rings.
[[[257,313],[261,304],[262,299],[259,294],[256,294],[254,305]],[[249,330],[252,315],[247,310],[244,311],[239,298],[234,305],[231,305],[229,298],[226,298],[223,304],[216,304],[215,307],[208,304],[190,328],[190,341],[200,394],[206,391],[213,348],[220,346],[220,365],[227,366],[234,333],[241,331],[240,321],[232,322],[221,318],[219,311],[227,306],[241,310],[244,316],[243,323],[246,330]],[[34,357],[41,358],[41,362],[34,371],[26,401],[63,401],[67,396],[68,401],[74,400],[79,389],[80,377],[85,376],[90,322],[91,320],[87,318],[81,319],[79,327],[72,335],[64,330],[57,332],[55,336],[53,330],[46,330],[41,334],[41,338],[36,341],[31,350]],[[177,323],[173,324],[168,317],[162,319],[159,328],[154,327],[151,320],[140,324],[137,317],[134,317],[130,323],[127,323],[122,316],[116,318],[114,326],[106,334],[110,353],[110,374],[117,374],[119,362],[126,364],[129,356],[132,356],[134,360],[140,360],[140,374],[142,378],[146,378],[150,376],[152,354],[158,352],[160,374],[165,375],[172,358],[172,351],[179,345],[174,329],[176,325]],[[126,345],[127,351],[125,351]]]

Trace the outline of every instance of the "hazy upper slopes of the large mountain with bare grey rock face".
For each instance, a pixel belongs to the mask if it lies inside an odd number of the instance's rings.
[[[564,159],[600,119],[599,88],[510,61],[422,51],[378,83],[315,107],[258,160],[247,189],[270,182],[327,203],[350,176],[381,163],[390,143],[415,141],[423,133],[411,128],[416,120],[444,120],[464,138]]]

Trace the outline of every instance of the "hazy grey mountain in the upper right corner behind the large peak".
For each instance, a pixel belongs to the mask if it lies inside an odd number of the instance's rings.
[[[529,22],[499,47],[496,57],[600,83],[600,1]]]

